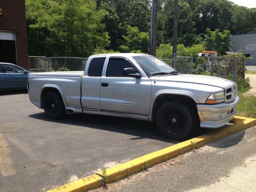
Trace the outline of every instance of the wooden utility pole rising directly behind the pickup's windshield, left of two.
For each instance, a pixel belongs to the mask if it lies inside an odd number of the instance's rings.
[[[151,39],[150,39],[150,53],[156,56],[156,45],[157,45],[157,2],[158,0],[152,1],[152,15],[151,15]]]

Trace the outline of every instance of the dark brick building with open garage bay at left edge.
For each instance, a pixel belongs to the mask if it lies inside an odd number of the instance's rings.
[[[25,0],[0,1],[0,62],[29,68]]]

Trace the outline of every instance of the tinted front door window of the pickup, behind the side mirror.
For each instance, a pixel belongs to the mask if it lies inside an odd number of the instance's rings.
[[[124,68],[134,68],[130,62],[126,60],[109,60],[107,77],[122,77]]]

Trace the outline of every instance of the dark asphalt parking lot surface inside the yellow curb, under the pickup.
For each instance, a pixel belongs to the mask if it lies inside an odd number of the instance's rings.
[[[0,114],[0,191],[46,191],[179,142],[144,121],[98,115],[51,120],[26,92],[1,92]]]

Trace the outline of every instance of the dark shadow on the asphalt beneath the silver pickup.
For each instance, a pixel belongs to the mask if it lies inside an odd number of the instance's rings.
[[[111,117],[111,116],[101,116],[101,115],[66,115],[63,119],[50,119],[44,113],[37,113],[29,115],[31,118],[40,119],[43,121],[51,121],[56,123],[69,124],[72,126],[84,126],[91,129],[98,129],[110,132],[117,132],[126,135],[134,136],[131,140],[138,139],[155,139],[164,142],[169,142],[177,144],[181,141],[194,138],[206,133],[211,132],[211,130],[197,129],[194,133],[190,134],[187,138],[178,141],[170,140],[165,138],[157,129],[155,123],[150,123],[146,121],[139,121],[134,119],[126,119],[120,117]],[[70,127],[72,129],[72,126]]]

